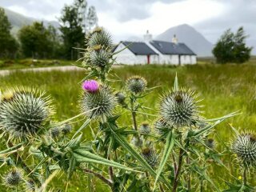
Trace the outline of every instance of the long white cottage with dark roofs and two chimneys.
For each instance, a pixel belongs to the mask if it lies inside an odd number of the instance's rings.
[[[152,35],[144,35],[144,42],[120,42],[114,52],[124,49],[116,55],[116,61],[126,65],[136,64],[195,64],[197,56],[184,43],[174,36],[172,42],[152,40]]]

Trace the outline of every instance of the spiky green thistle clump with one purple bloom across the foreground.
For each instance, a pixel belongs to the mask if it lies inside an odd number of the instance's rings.
[[[79,66],[90,70],[80,82],[80,114],[56,121],[50,97],[39,90],[1,94],[0,130],[7,148],[0,151],[0,162],[14,169],[2,182],[21,190],[54,190],[48,186],[52,179],[66,175],[70,186],[75,174],[86,175],[89,191],[94,191],[93,178],[118,192],[220,191],[208,174],[213,163],[224,166],[211,137],[215,126],[238,113],[203,117],[198,94],[180,88],[177,75],[174,86],[154,98],[158,109],[148,107],[147,97],[158,88],[150,87],[150,79],[134,75],[121,90],[113,87],[116,53],[110,34],[97,27],[85,42]],[[89,131],[91,141],[83,135]],[[241,134],[232,143],[246,176],[255,165],[254,134]]]

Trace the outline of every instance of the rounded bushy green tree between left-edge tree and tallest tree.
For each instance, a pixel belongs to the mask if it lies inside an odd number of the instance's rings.
[[[50,40],[50,31],[42,22],[34,22],[31,26],[23,26],[18,32],[22,44],[22,52],[26,57],[50,58],[53,42]]]

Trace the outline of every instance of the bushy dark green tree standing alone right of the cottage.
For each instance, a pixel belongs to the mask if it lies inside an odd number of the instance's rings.
[[[238,28],[236,34],[226,30],[214,47],[213,54],[219,63],[235,62],[242,63],[250,59],[252,47],[246,46],[248,36],[242,27]]]

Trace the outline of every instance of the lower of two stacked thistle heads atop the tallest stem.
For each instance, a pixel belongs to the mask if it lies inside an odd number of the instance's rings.
[[[90,53],[90,64],[92,66],[105,67],[109,64],[110,53],[106,50],[93,50]]]

